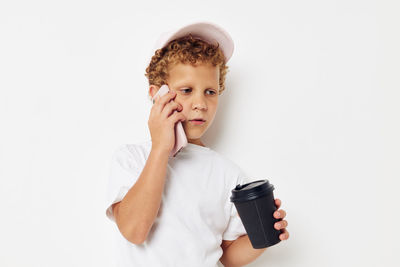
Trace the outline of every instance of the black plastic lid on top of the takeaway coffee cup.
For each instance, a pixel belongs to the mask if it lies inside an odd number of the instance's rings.
[[[243,202],[268,195],[274,190],[274,186],[268,180],[257,180],[243,185],[236,185],[232,189],[231,202]]]

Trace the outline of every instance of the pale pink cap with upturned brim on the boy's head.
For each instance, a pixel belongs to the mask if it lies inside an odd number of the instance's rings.
[[[161,49],[170,41],[189,35],[189,33],[191,33],[193,37],[202,39],[210,44],[216,44],[215,42],[218,42],[219,48],[225,56],[225,63],[231,58],[234,45],[228,32],[214,23],[199,21],[180,26],[168,32],[163,32],[151,51],[150,61],[157,49]]]

